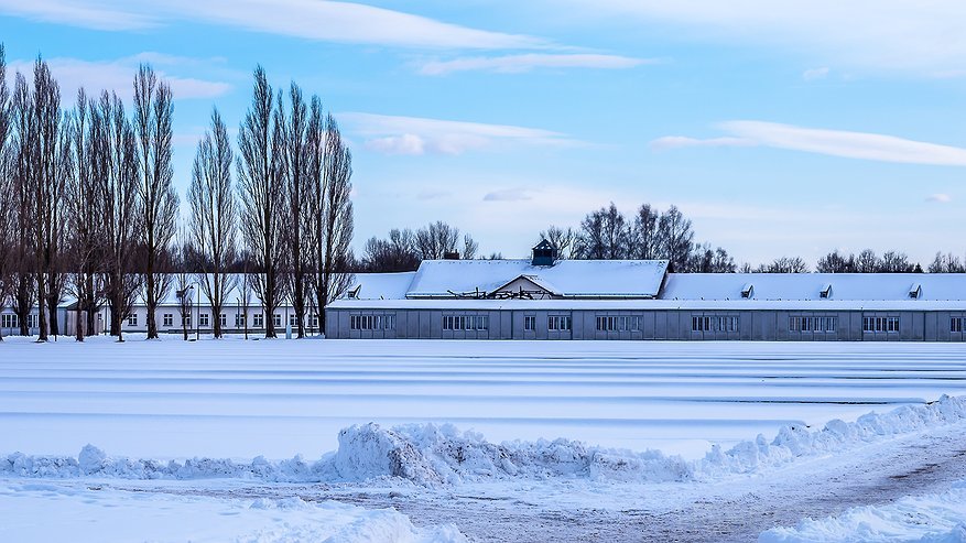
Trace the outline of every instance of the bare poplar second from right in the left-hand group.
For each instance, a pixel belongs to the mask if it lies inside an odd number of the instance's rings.
[[[140,280],[134,273],[135,243],[141,231],[138,197],[138,148],[134,129],[116,94],[104,91],[91,117],[96,127],[94,175],[100,180],[104,216],[105,278],[111,309],[111,335],[123,341],[122,319],[131,313]]]

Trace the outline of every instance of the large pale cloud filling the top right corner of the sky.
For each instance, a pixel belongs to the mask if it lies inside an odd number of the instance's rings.
[[[566,0],[586,25],[615,14],[653,23],[675,39],[780,46],[835,64],[925,75],[966,66],[966,3],[931,0]]]

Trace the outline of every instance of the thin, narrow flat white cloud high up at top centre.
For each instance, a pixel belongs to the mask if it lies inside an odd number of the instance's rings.
[[[497,72],[517,74],[535,68],[632,68],[656,61],[598,54],[541,54],[530,53],[506,56],[473,56],[452,61],[432,61],[420,67],[423,75],[444,75],[454,72]]]

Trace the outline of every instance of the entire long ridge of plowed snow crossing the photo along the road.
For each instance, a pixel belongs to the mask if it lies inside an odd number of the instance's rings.
[[[354,425],[339,433],[339,448],[316,461],[301,456],[251,463],[193,458],[159,461],[110,458],[87,445],[78,457],[0,457],[0,475],[78,477],[96,475],[126,479],[251,478],[276,482],[361,481],[401,478],[437,486],[491,479],[589,478],[617,481],[714,480],[751,474],[796,458],[842,452],[862,443],[919,432],[966,420],[966,397],[869,413],[856,422],[831,421],[822,430],[785,426],[769,442],[759,435],[728,450],[714,446],[702,459],[684,460],[660,450],[643,453],[587,446],[577,441],[487,442],[476,432],[449,424],[383,428],[376,423]]]

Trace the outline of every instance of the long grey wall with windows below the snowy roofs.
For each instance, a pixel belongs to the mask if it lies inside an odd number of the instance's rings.
[[[329,338],[421,338],[421,339],[674,339],[674,340],[769,340],[769,341],[964,341],[966,311],[862,312],[862,311],[438,311],[438,309],[326,309]],[[392,329],[358,329],[352,316],[394,315]],[[444,317],[488,318],[486,329],[444,329]],[[549,329],[553,316],[571,317],[571,329]],[[533,329],[527,321],[533,319]],[[599,318],[606,321],[601,326]],[[696,324],[695,319],[701,321]],[[807,321],[808,329],[791,329],[792,319]],[[864,330],[864,319],[898,318],[898,332]],[[952,332],[952,318],[963,318],[963,332]],[[736,319],[736,321],[729,321]],[[816,330],[820,321],[823,329]],[[834,327],[828,325],[834,319]],[[384,321],[383,321],[384,322]],[[884,322],[884,321],[882,321]],[[358,323],[358,321],[357,321]],[[831,329],[828,329],[831,328]]]

